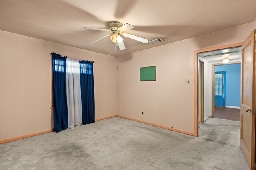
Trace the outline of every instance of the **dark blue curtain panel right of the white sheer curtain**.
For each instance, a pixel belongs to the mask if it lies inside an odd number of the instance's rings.
[[[79,61],[82,100],[82,124],[95,121],[93,61]]]

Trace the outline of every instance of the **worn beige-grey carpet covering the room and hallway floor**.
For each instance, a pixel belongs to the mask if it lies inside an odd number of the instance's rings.
[[[240,122],[208,119],[192,137],[114,117],[0,144],[0,169],[247,170]]]

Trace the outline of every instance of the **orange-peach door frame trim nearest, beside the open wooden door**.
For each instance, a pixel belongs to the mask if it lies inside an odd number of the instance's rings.
[[[243,42],[194,51],[194,136],[198,137],[198,53],[240,47]]]

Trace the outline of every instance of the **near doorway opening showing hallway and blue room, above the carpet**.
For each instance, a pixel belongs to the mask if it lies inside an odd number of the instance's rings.
[[[198,53],[198,127],[209,117],[240,121],[241,47]]]

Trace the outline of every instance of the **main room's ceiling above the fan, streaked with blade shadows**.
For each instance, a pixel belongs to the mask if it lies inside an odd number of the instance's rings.
[[[152,40],[144,44],[124,37],[119,55],[140,51],[242,25],[255,20],[256,0],[0,0],[0,30],[115,55],[104,39],[110,21],[130,23],[126,31]]]

